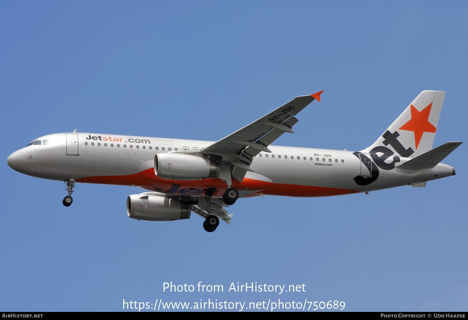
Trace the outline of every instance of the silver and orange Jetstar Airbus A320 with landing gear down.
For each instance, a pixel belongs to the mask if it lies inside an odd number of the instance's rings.
[[[462,142],[432,149],[445,92],[423,91],[386,131],[361,151],[271,145],[294,133],[295,117],[323,90],[292,99],[219,141],[66,132],[31,141],[7,158],[14,170],[64,181],[71,197],[76,182],[149,190],[127,197],[127,215],[146,221],[204,218],[213,232],[228,225],[225,208],[238,198],[275,195],[338,196],[409,185],[455,175],[440,163]]]

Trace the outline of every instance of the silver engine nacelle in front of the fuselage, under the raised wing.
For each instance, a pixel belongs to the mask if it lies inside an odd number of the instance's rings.
[[[219,177],[219,164],[185,153],[156,153],[154,174],[163,179],[197,180]]]

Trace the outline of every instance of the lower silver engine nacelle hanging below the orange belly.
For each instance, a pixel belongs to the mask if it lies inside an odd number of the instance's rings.
[[[130,195],[127,215],[147,221],[173,221],[190,218],[190,205],[162,196]]]

